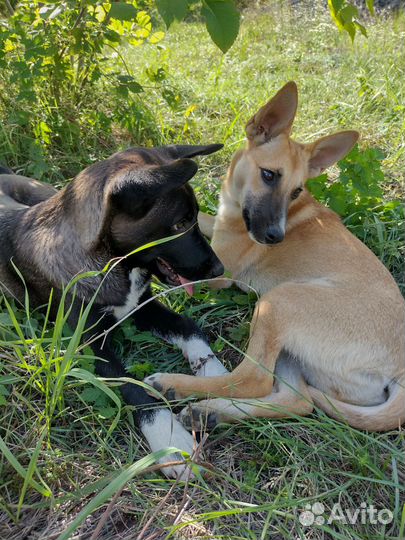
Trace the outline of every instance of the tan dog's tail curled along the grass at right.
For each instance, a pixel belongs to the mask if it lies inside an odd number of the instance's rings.
[[[344,403],[309,387],[314,404],[328,416],[345,420],[350,426],[367,431],[389,431],[405,422],[405,376],[390,387],[389,397],[384,403],[364,407]]]

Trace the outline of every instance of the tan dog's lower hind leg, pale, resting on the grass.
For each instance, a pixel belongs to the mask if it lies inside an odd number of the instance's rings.
[[[178,415],[187,429],[212,429],[220,422],[246,418],[306,416],[313,410],[299,365],[286,353],[277,360],[272,393],[261,399],[207,399],[185,407]]]

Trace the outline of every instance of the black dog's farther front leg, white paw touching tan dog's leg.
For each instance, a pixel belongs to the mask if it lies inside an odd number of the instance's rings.
[[[212,377],[228,373],[212,352],[196,323],[152,300],[133,315],[139,330],[150,330],[164,340],[177,345],[188,359],[193,373],[199,377]]]

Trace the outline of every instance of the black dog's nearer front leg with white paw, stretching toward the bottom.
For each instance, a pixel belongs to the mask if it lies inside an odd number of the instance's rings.
[[[115,321],[115,317],[105,314],[102,316],[102,313],[93,310],[87,321],[91,331],[89,330],[89,335],[85,337],[90,338],[93,335],[101,335],[103,330],[110,328]],[[69,322],[75,326],[74,317],[73,320],[71,317]],[[106,378],[128,377],[121,360],[113,350],[109,336],[104,342],[102,338],[95,341],[91,347],[94,355],[98,358],[96,361],[96,373],[98,375]],[[134,407],[135,422],[142,431],[152,452],[174,447],[192,456],[195,450],[194,438],[184,429],[170,410],[163,408],[161,403],[147,394],[143,387],[136,384],[136,381],[124,383],[120,386],[120,391],[125,403]],[[167,455],[161,458],[159,463],[164,465],[174,461],[180,463],[162,468],[165,476],[182,480],[193,476],[191,469],[184,463],[184,458],[179,453]]]

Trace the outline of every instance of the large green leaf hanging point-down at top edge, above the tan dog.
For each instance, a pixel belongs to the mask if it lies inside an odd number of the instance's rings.
[[[233,0],[204,0],[201,14],[212,41],[226,52],[239,32],[239,12]]]

